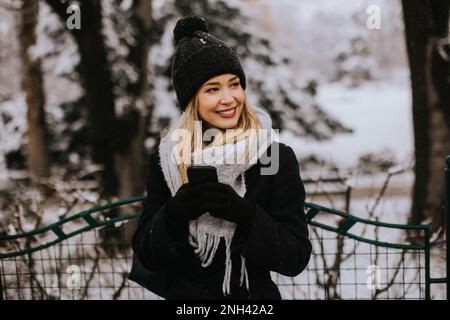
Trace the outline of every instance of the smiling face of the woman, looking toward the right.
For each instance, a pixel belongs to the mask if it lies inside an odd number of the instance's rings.
[[[239,77],[227,73],[206,81],[198,91],[198,113],[218,129],[234,128],[241,117],[245,94]]]

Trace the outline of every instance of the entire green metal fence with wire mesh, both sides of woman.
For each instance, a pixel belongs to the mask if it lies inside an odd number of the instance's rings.
[[[448,217],[450,157],[446,183]],[[136,205],[142,200],[119,201],[31,232],[1,236],[0,300],[159,299],[127,279],[132,251],[129,241],[120,240],[139,216]],[[117,208],[129,211],[108,218]],[[298,277],[272,273],[284,299],[430,299],[435,283],[447,285],[448,297],[448,277],[431,277],[428,225],[366,220],[314,203],[305,209],[313,254]],[[411,233],[414,243],[406,241]]]

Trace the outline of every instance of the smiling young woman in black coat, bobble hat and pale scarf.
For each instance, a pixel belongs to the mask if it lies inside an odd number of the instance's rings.
[[[296,156],[249,106],[237,54],[203,18],[179,20],[174,36],[183,114],[150,156],[135,256],[164,271],[167,299],[281,299],[270,271],[296,276],[311,253]],[[189,183],[193,163],[219,182]]]

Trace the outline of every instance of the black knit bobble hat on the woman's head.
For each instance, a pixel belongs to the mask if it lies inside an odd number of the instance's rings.
[[[214,76],[234,74],[245,89],[245,74],[237,53],[209,33],[203,17],[186,16],[178,20],[173,34],[176,52],[172,61],[172,85],[182,110],[203,83]]]

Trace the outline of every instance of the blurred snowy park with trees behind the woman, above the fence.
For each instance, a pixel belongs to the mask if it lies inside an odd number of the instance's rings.
[[[239,53],[308,201],[442,237],[440,0],[0,0],[0,234],[144,194],[146,159],[179,116],[172,31],[187,14]]]

